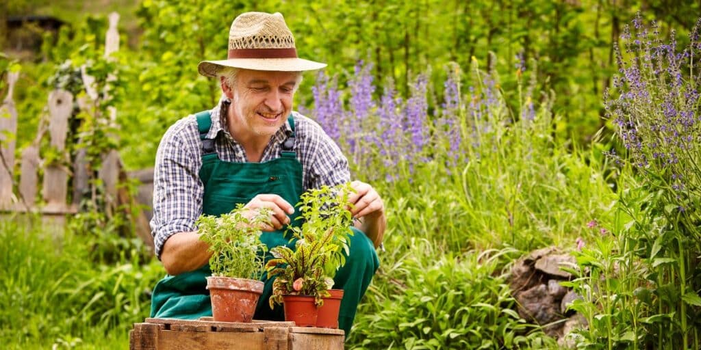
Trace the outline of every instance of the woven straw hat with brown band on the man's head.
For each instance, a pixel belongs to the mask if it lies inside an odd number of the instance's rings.
[[[292,31],[280,13],[247,12],[231,23],[229,59],[200,62],[197,70],[214,78],[225,66],[257,71],[313,71],[326,64],[297,57]]]

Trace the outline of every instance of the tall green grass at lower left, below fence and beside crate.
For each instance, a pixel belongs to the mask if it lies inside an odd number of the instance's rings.
[[[0,343],[4,349],[123,349],[148,316],[158,262],[96,264],[90,239],[53,237],[38,218],[0,221]],[[138,256],[132,254],[131,256]]]

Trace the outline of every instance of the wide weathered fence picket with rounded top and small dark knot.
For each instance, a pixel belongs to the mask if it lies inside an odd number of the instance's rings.
[[[73,111],[73,95],[65,90],[54,90],[48,97],[48,110],[50,144],[58,151],[63,151],[66,146],[68,119]],[[46,167],[43,181],[46,208],[60,210],[66,207],[67,182],[68,174],[63,167],[57,164]]]

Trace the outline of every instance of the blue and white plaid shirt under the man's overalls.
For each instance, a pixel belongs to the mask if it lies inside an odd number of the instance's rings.
[[[247,162],[243,147],[231,137],[226,127],[228,106],[229,103],[222,98],[212,109],[212,127],[207,138],[216,137],[215,151],[220,160]],[[348,182],[351,177],[348,160],[334,141],[313,120],[297,112],[292,112],[292,116],[296,139],[294,151],[302,165],[304,190]],[[286,130],[290,130],[288,123],[271,137],[261,162],[280,157],[280,146],[287,138]],[[172,125],[158,146],[151,234],[159,259],[165,241],[177,232],[194,231],[195,221],[202,214],[204,186],[199,176],[202,167],[201,145],[197,120],[190,115]]]

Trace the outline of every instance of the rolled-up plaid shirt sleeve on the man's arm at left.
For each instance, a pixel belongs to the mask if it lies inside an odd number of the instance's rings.
[[[192,117],[179,120],[165,132],[156,153],[151,234],[158,259],[170,236],[195,230],[204,193],[201,166],[196,121]]]

